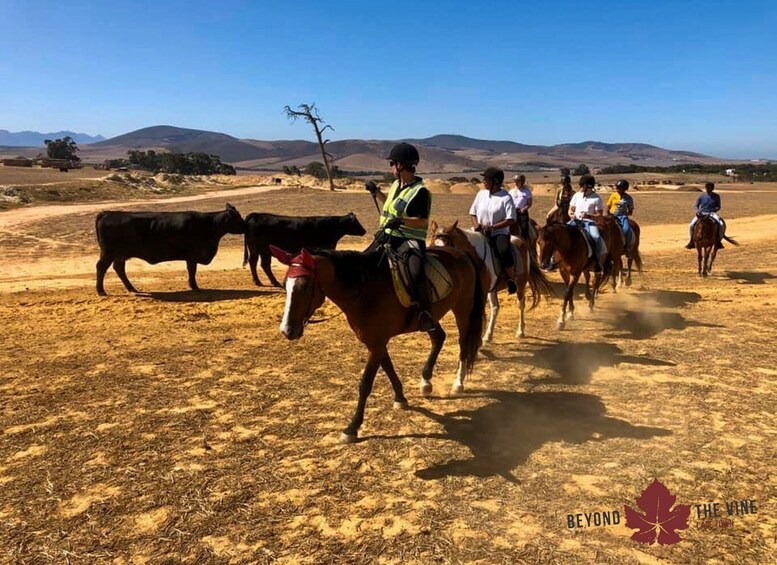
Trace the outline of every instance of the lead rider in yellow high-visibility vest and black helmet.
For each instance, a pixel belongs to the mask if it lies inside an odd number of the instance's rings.
[[[424,271],[426,256],[426,234],[432,209],[432,194],[424,186],[423,179],[416,176],[416,166],[421,158],[418,150],[409,143],[398,143],[389,153],[388,161],[397,180],[391,185],[388,195],[383,194],[374,182],[367,183],[367,190],[376,202],[383,203],[380,228],[370,246],[388,243],[403,261],[413,282],[418,304],[418,322],[421,330],[435,328],[431,314],[431,291]]]

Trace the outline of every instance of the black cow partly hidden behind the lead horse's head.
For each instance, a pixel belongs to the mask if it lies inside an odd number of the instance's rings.
[[[275,214],[248,214],[243,266],[251,265],[251,276],[257,286],[262,281],[256,274],[256,262],[262,259],[262,270],[275,286],[281,283],[270,269],[270,245],[290,253],[308,249],[334,249],[344,235],[364,235],[366,230],[353,212],[345,216],[276,216]]]

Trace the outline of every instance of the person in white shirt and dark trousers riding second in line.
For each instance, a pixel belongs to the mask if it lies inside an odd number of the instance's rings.
[[[510,243],[510,226],[516,218],[513,197],[502,188],[505,174],[501,169],[489,167],[481,176],[486,188],[477,193],[469,209],[472,228],[482,232],[496,249],[507,275],[507,292],[514,294],[518,287],[515,284],[515,259]]]

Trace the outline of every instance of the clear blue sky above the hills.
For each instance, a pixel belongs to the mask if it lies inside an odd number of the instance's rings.
[[[777,158],[777,2],[0,0],[0,129],[458,133]]]

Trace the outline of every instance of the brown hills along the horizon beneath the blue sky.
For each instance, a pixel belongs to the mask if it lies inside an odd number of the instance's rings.
[[[3,130],[0,130],[2,133]],[[61,132],[67,134],[67,132]],[[42,135],[42,134],[38,134]],[[60,134],[47,134],[59,136]],[[71,135],[76,139],[73,135]],[[50,137],[49,137],[50,138]],[[78,141],[76,139],[76,141]],[[645,143],[602,143],[584,141],[559,145],[527,145],[514,141],[473,139],[461,135],[435,135],[407,139],[421,153],[421,170],[426,173],[454,173],[499,166],[508,170],[558,168],[585,163],[603,167],[617,163],[666,166],[678,163],[722,163],[723,159],[690,151],[664,149]],[[345,171],[386,170],[386,156],[396,140],[347,139],[327,144],[335,164]],[[0,145],[7,145],[0,137]],[[218,155],[222,161],[247,170],[280,170],[284,166],[304,167],[321,161],[318,144],[311,141],[261,141],[174,126],[139,129],[80,147],[79,155],[89,163],[126,157],[130,149],[175,150]],[[33,149],[13,148],[0,154],[34,154]],[[725,160],[733,162],[734,160]]]

